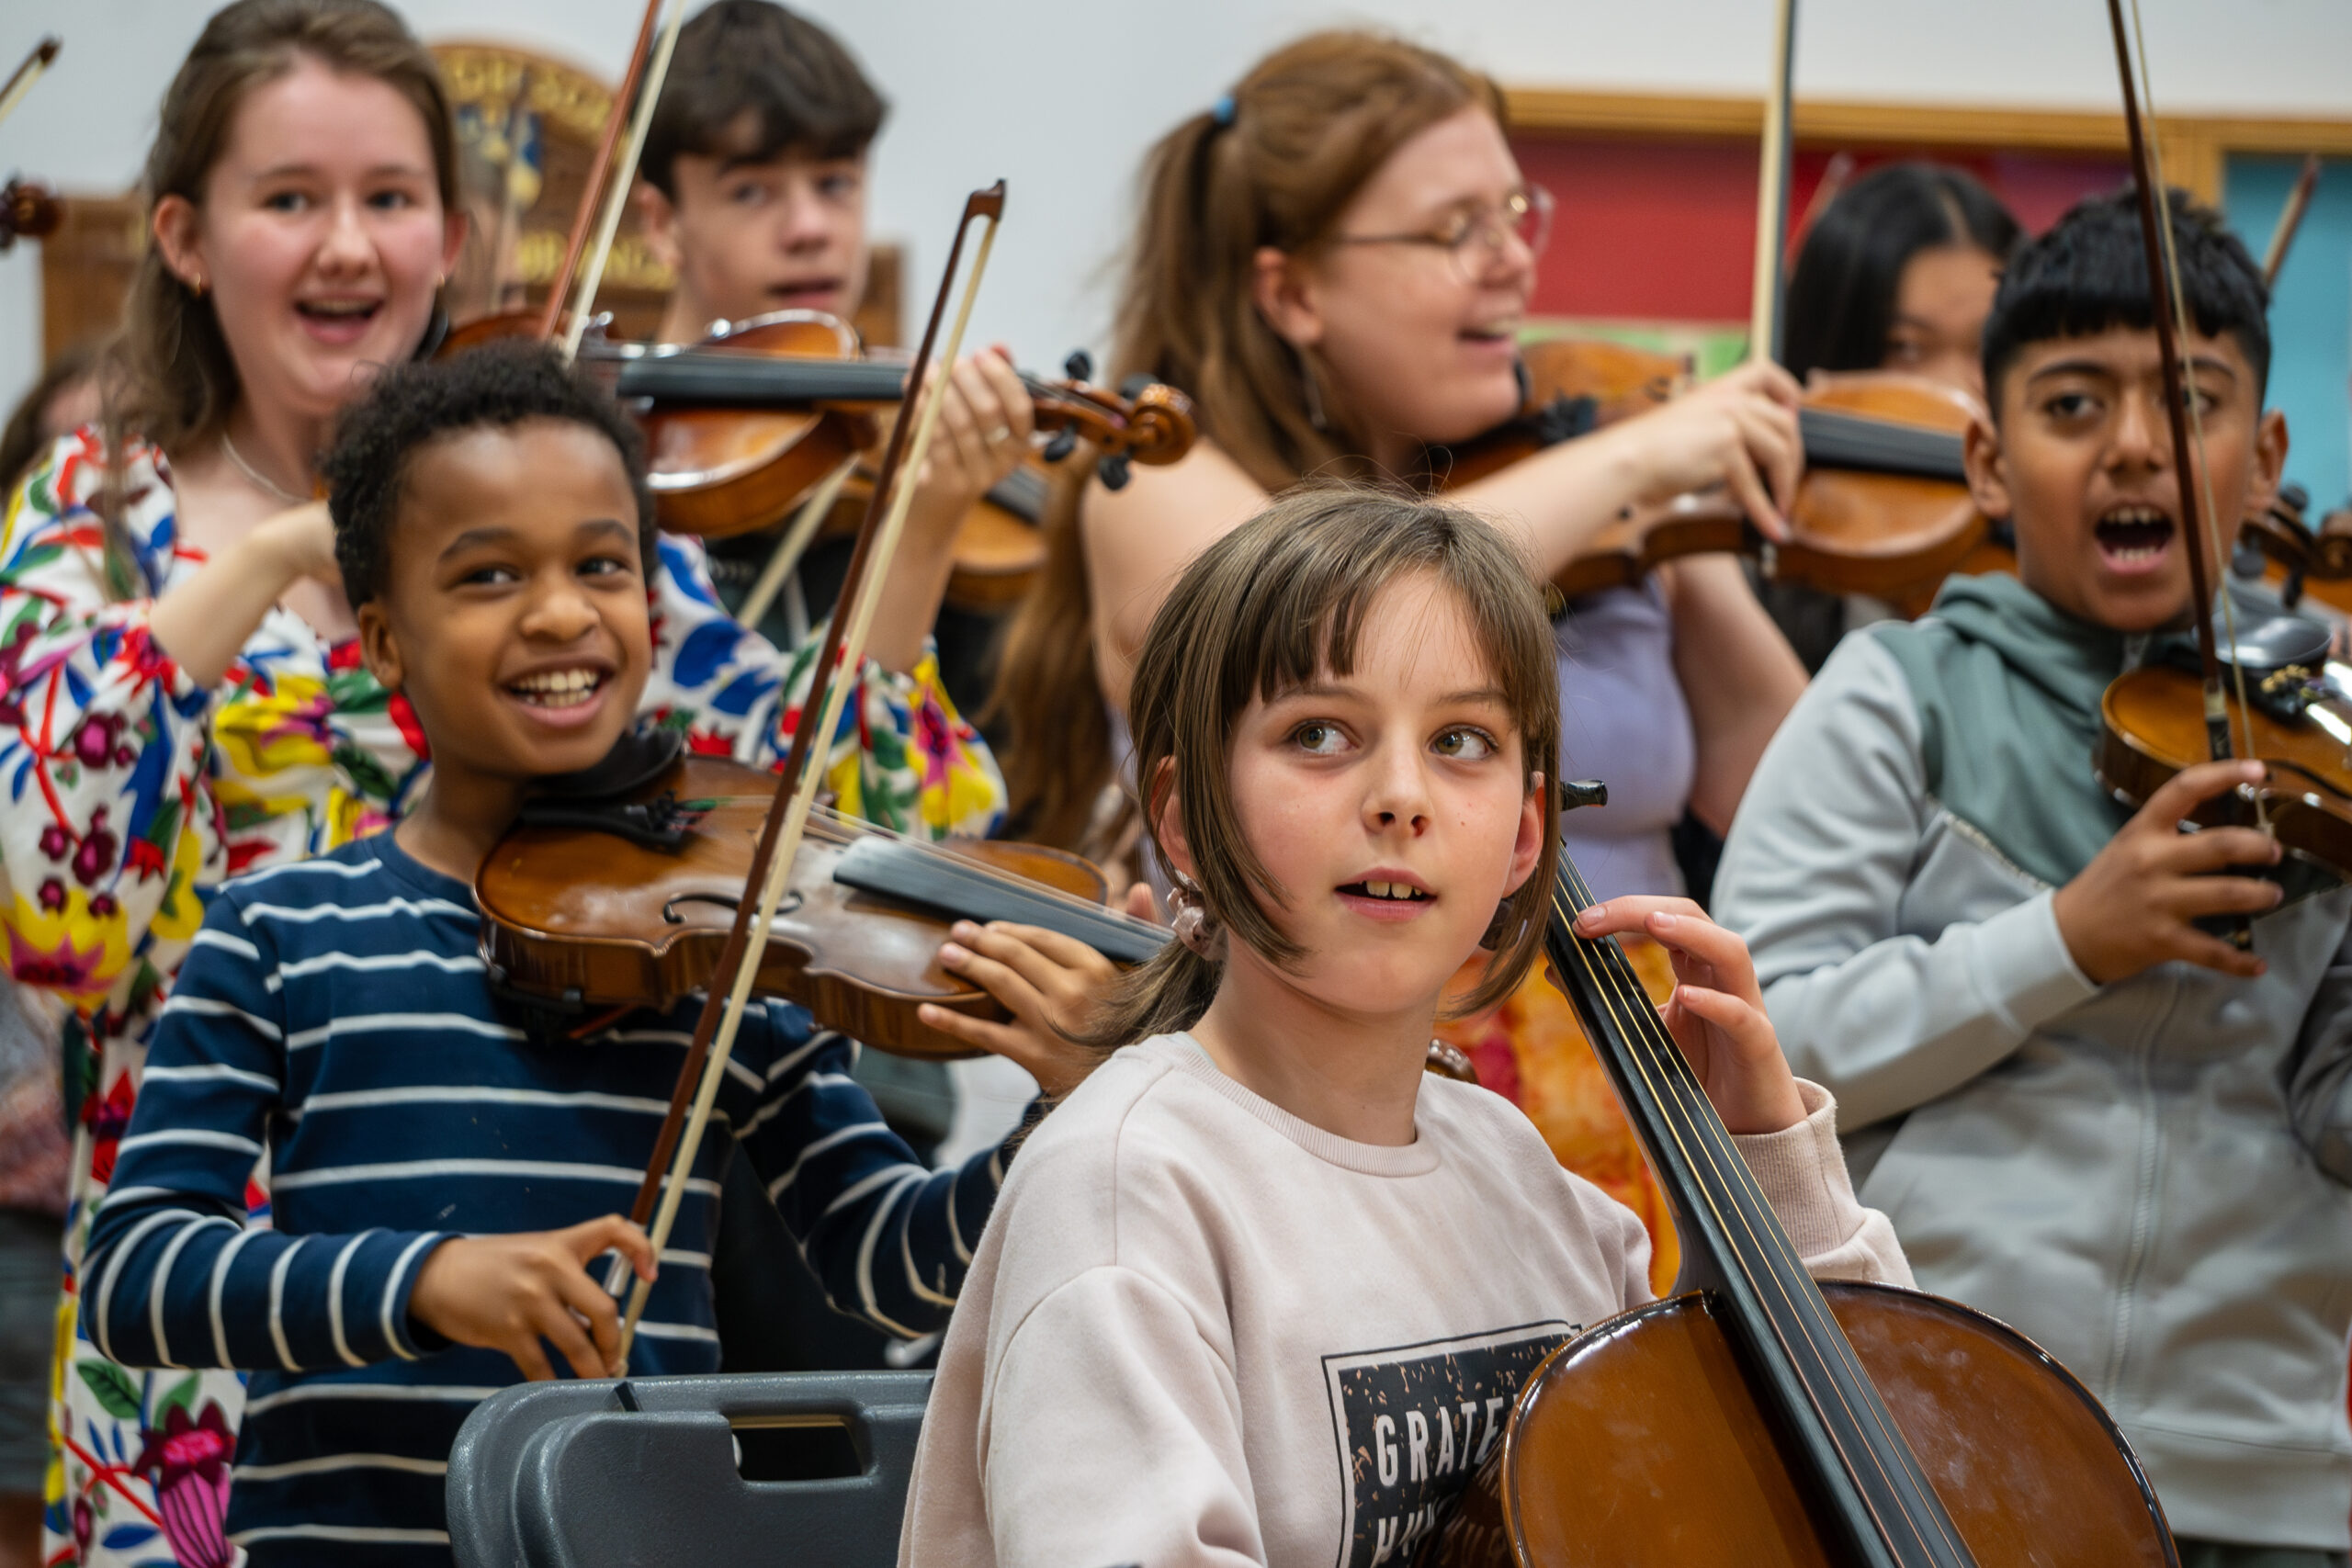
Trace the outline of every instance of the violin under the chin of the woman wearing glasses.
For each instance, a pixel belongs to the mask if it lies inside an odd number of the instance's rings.
[[[1632,418],[1689,383],[1682,360],[1618,343],[1555,339],[1524,355],[1519,418],[1437,454],[1444,487],[1484,480],[1548,444]],[[1940,583],[1985,536],[1969,496],[1962,437],[1980,404],[1969,393],[1898,371],[1816,376],[1797,423],[1804,477],[1790,536],[1769,541],[1719,491],[1628,508],[1552,583],[1576,597],[1623,588],[1682,555],[1738,552],[1764,576],[1828,592],[1907,597]]]

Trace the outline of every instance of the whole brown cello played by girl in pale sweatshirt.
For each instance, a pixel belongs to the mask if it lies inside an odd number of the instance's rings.
[[[1566,785],[1602,804],[1599,785]],[[1442,1568],[2178,1563],[2131,1446],[2037,1345],[1957,1302],[1816,1284],[1566,853],[1545,954],[1675,1213],[1686,1293],[1536,1368]]]

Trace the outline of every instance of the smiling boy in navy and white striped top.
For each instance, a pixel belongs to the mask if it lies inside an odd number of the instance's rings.
[[[635,428],[550,355],[480,350],[386,371],[327,477],[367,665],[416,710],[433,783],[397,830],[214,898],[82,1309],[115,1361],[254,1373],[228,1474],[188,1434],[193,1481],[233,1476],[228,1537],[254,1563],[350,1547],[435,1563],[466,1413],[520,1378],[619,1373],[600,1258],[654,1279],[630,1371],[717,1371],[708,1262],[729,1145],[833,1302],[898,1335],[946,1326],[1004,1154],[927,1171],[851,1081],[854,1041],[753,1006],[717,1103],[731,1138],[703,1145],[656,1260],[614,1208],[696,1004],[532,1039],[489,987],[473,900],[534,780],[597,762],[633,724],[654,559]],[[1047,1058],[1025,1065],[1056,1079]],[[275,1229],[249,1229],[263,1154]]]

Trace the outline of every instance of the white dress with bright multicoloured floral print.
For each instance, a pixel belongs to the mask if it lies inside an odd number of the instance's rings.
[[[99,437],[64,437],[0,534],[0,922],[16,983],[66,1001],[89,1041],[45,1561],[195,1568],[235,1556],[219,1519],[242,1385],[103,1361],[75,1324],[80,1248],[209,891],[397,820],[430,762],[407,701],[376,684],[358,642],[329,644],[287,609],[219,684],[191,679],[148,635],[153,599],[205,562],[179,538],[169,465],[153,447],[125,461],[127,564],[143,597],[103,588],[92,510],[103,480]],[[691,541],[663,536],[652,576],[644,715],[699,752],[781,759],[816,649],[786,656],[736,625]],[[913,675],[866,665],[826,766],[842,811],[934,837],[985,832],[1004,802],[931,654]]]

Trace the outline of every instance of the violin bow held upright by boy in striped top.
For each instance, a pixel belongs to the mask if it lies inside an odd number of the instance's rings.
[[[948,268],[938,280],[938,296],[931,301],[931,317],[922,329],[922,346],[908,367],[906,383],[910,393],[898,404],[898,418],[891,421],[889,444],[882,449],[882,468],[875,475],[875,498],[866,508],[866,522],[858,524],[849,569],[842,576],[842,592],[826,623],[826,642],[816,656],[814,682],[821,682],[821,686],[811,682],[809,698],[816,698],[821,689],[823,712],[811,724],[809,710],[816,703],[802,701],[800,722],[793,724],[793,745],[776,778],[776,795],[769,799],[767,820],[760,825],[760,844],[753,851],[750,875],[743,879],[743,898],[736,903],[734,926],[727,931],[727,947],[720,952],[717,969],[710,973],[710,985],[703,992],[703,1011],[694,1023],[694,1044],[677,1070],[677,1088],[670,1093],[670,1110],[661,1121],[654,1159],[647,1164],[644,1182],[637,1187],[637,1206],[630,1218],[640,1225],[644,1225],[644,1211],[652,1206],[654,1194],[661,1194],[661,1208],[649,1232],[656,1258],[670,1239],[670,1227],[677,1222],[687,1175],[694,1171],[694,1154],[701,1147],[703,1131],[710,1124],[710,1107],[717,1103],[720,1084],[727,1077],[727,1058],[734,1053],[743,1009],[750,1004],[753,980],[760,973],[755,954],[767,950],[769,924],[776,917],[776,905],[783,900],[802,832],[816,806],[816,792],[823,788],[826,769],[816,759],[818,738],[830,750],[830,738],[840,729],[849,693],[858,686],[866,632],[873,625],[875,607],[882,602],[889,559],[898,550],[898,536],[906,531],[906,515],[915,501],[915,487],[903,477],[922,470],[931,435],[938,430],[938,411],[946,407],[946,383],[929,393],[922,393],[922,386],[931,367],[931,350],[938,343],[941,317],[948,310],[948,294],[962,266],[964,237],[971,233],[974,221],[983,223],[971,256],[971,273],[964,280],[964,294],[955,310],[955,327],[948,331],[946,348],[941,350],[941,362],[950,364],[962,350],[964,327],[971,322],[971,301],[978,296],[981,275],[988,270],[988,252],[995,247],[1002,216],[1004,181],[997,181],[988,190],[974,190],[964,200],[964,214],[955,226],[955,244],[948,249]],[[915,411],[917,407],[920,411]],[[910,411],[915,411],[913,418]],[[910,425],[913,440],[908,440]],[[691,1112],[687,1112],[689,1093]],[[680,1124],[684,1124],[682,1133]],[[663,1182],[673,1166],[675,1175]],[[630,1291],[628,1314],[621,1321],[623,1361],[628,1359],[628,1347],[635,1340],[637,1319],[644,1314],[649,1293],[652,1284],[644,1279],[635,1281]]]

